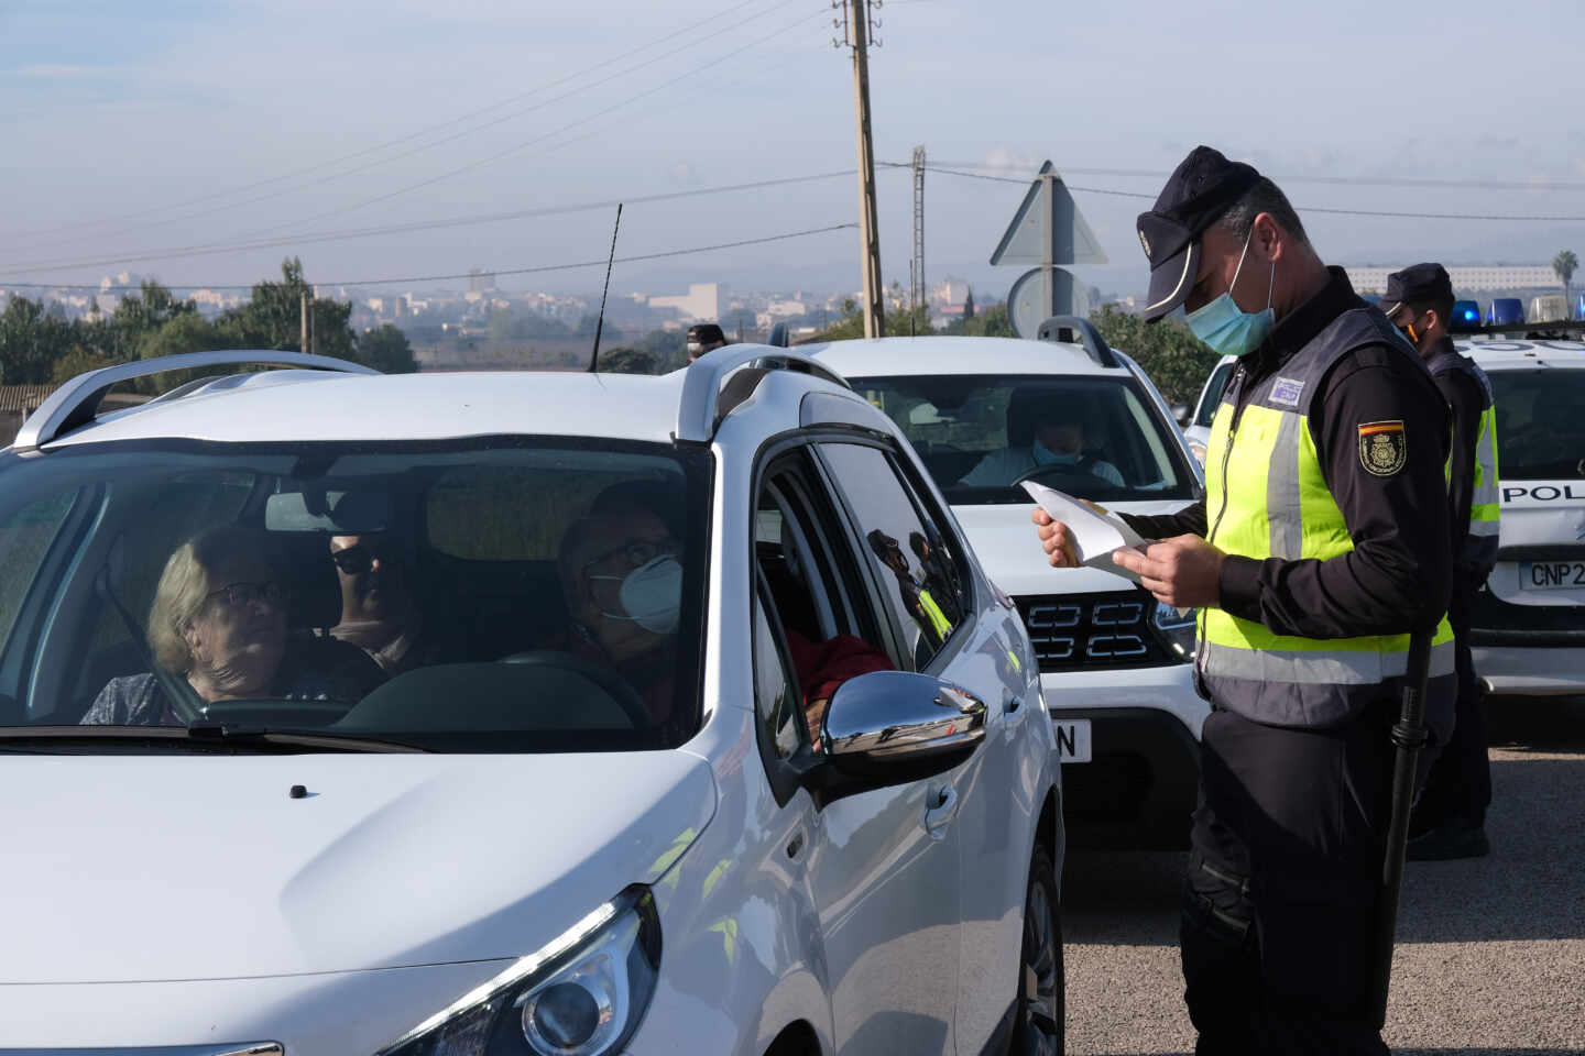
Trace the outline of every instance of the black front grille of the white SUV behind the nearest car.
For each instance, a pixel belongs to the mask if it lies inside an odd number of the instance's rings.
[[[1155,633],[1155,598],[1144,591],[1040,594],[1013,598],[1041,671],[1181,663]]]

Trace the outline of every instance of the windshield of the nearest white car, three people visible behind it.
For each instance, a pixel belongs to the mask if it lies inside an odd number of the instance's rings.
[[[0,480],[8,744],[634,750],[697,728],[704,451],[151,442],[6,453]]]

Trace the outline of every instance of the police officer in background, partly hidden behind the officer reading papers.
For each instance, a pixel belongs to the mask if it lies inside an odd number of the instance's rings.
[[[1415,861],[1479,858],[1490,853],[1485,812],[1491,804],[1485,716],[1469,659],[1469,610],[1496,562],[1498,464],[1491,382],[1447,336],[1453,283],[1441,264],[1415,264],[1387,277],[1382,312],[1425,361],[1453,416],[1447,459],[1449,527],[1453,540],[1453,627],[1458,722],[1425,782],[1409,828]]]

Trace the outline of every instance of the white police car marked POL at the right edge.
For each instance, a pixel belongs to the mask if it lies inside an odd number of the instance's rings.
[[[1498,564],[1471,613],[1476,673],[1491,693],[1585,692],[1585,344],[1453,347],[1491,380],[1503,486]],[[1197,450],[1233,363],[1222,356],[1184,427]]]

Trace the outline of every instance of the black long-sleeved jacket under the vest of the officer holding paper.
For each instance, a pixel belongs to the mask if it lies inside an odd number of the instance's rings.
[[[1325,288],[1239,358],[1228,393],[1247,394],[1331,320],[1363,307],[1342,269],[1328,272]],[[1236,372],[1246,374],[1244,385]],[[1233,408],[1235,427],[1243,410],[1243,402]],[[1403,421],[1407,443],[1403,469],[1388,477],[1369,472],[1362,461],[1358,429],[1381,421]],[[1449,434],[1447,405],[1425,364],[1406,345],[1365,345],[1347,353],[1322,378],[1309,431],[1354,551],[1330,560],[1228,556],[1219,608],[1279,635],[1304,638],[1434,627],[1447,611],[1452,572],[1444,478]],[[1178,513],[1125,519],[1148,538],[1203,537],[1208,524],[1203,499]]]

